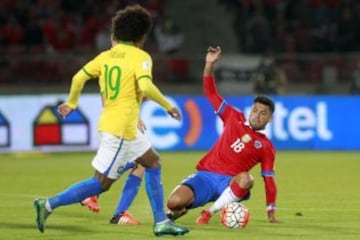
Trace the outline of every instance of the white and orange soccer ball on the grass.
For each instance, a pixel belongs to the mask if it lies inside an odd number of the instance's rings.
[[[239,202],[227,204],[220,213],[220,221],[227,228],[244,228],[249,222],[249,217],[249,210]]]

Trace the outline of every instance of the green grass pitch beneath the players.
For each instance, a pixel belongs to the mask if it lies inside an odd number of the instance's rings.
[[[139,226],[110,225],[126,176],[100,197],[101,212],[90,213],[80,204],[58,208],[49,217],[45,233],[35,225],[32,202],[51,196],[70,184],[90,177],[94,153],[1,154],[0,239],[155,239],[152,213],[142,185],[130,208]],[[187,175],[203,152],[163,152],[165,199]],[[226,229],[213,217],[196,226],[201,209],[178,220],[191,232],[178,239],[360,239],[360,152],[278,152],[276,181],[280,224],[266,221],[264,185],[259,168],[252,174],[255,186],[245,205],[250,222],[245,229]],[[301,213],[302,216],[298,216]],[[174,239],[163,236],[162,239]]]

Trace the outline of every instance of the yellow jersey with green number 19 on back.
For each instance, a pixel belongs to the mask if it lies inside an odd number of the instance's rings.
[[[85,82],[96,78],[104,99],[98,130],[125,140],[134,139],[143,98],[139,82],[152,80],[151,56],[140,48],[123,42],[100,53],[73,77],[67,104],[76,108]],[[171,104],[156,90],[155,87],[155,99],[154,96],[152,99],[166,110],[170,109]],[[152,88],[149,95],[153,93]]]

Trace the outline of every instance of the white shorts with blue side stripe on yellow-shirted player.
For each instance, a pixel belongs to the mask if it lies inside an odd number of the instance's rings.
[[[126,141],[107,132],[100,132],[100,146],[92,166],[111,179],[118,179],[126,163],[134,162],[151,148],[150,141],[138,131],[134,140]]]

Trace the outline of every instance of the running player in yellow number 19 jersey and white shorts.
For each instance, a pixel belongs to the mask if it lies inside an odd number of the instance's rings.
[[[62,117],[77,106],[86,81],[98,78],[103,111],[99,119],[100,146],[92,161],[95,175],[73,184],[48,199],[36,199],[36,223],[40,232],[54,209],[79,203],[85,198],[107,191],[129,162],[146,168],[145,187],[154,215],[154,234],[183,235],[189,229],[175,225],[164,210],[164,191],[158,154],[139,134],[137,123],[143,96],[159,103],[176,120],[180,112],[172,106],[152,82],[152,59],[142,50],[152,18],[139,5],[120,10],[112,19],[112,40],[117,44],[89,61],[72,79],[68,100],[59,105]]]

